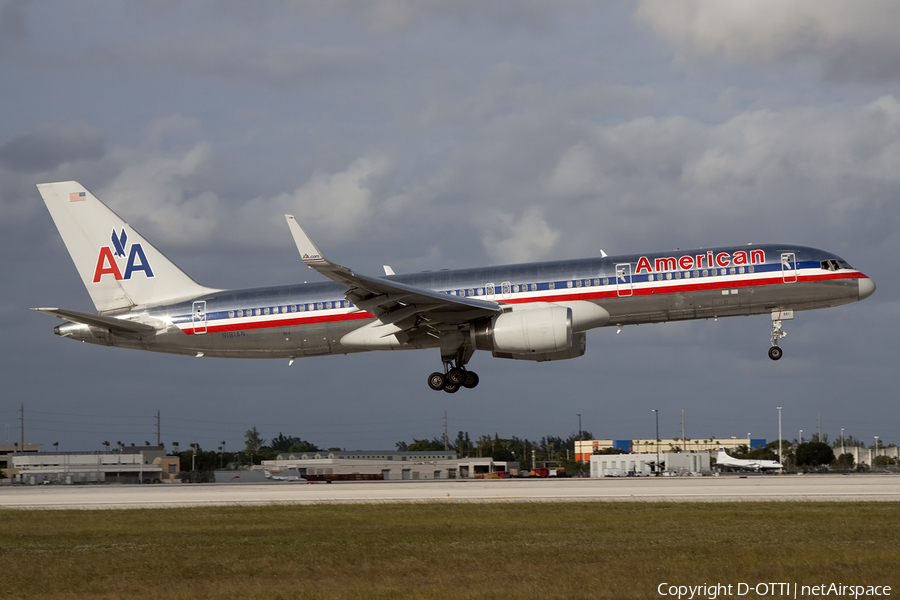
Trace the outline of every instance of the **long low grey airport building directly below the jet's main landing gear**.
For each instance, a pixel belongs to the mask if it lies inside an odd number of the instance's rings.
[[[331,451],[289,452],[263,461],[273,474],[306,476],[375,476],[384,480],[488,479],[515,477],[519,463],[487,458],[457,458],[456,452]],[[380,477],[379,477],[380,476]]]

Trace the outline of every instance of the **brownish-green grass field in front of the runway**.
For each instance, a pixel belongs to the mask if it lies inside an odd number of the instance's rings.
[[[660,598],[662,582],[896,593],[898,565],[898,503],[0,511],[4,599]]]

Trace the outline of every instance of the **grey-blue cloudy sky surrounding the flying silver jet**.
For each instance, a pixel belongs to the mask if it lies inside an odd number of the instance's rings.
[[[442,433],[900,443],[900,4],[829,0],[0,1],[0,441],[347,449]],[[864,303],[594,331],[579,359],[229,361],[76,344],[93,310],[35,184],[75,179],[197,281],[316,280],[283,214],[363,273],[788,242]],[[8,433],[7,433],[8,431]]]

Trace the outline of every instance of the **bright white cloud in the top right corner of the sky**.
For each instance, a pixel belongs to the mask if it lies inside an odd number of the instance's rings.
[[[642,0],[636,18],[681,63],[811,57],[843,79],[900,75],[900,4],[890,0]]]

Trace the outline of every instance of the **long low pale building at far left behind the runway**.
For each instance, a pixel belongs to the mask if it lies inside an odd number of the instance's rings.
[[[15,482],[173,483],[181,470],[177,456],[161,446],[132,446],[114,452],[30,452],[9,457],[7,476]]]

